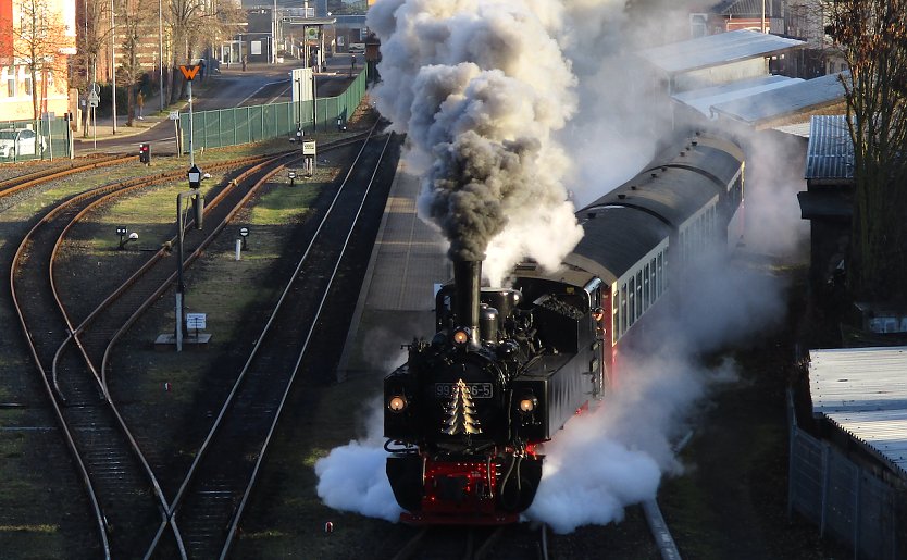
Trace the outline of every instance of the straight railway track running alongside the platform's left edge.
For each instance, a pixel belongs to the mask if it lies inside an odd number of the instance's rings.
[[[261,462],[322,320],[362,207],[390,136],[368,140],[287,281],[271,316],[218,412],[170,511],[187,558],[224,558],[237,533]],[[380,142],[381,149],[366,149]],[[159,528],[163,536],[164,525]],[[169,558],[159,538],[146,557]],[[181,543],[177,543],[179,545]]]

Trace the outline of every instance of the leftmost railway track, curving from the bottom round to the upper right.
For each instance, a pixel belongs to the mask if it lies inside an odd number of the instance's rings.
[[[261,158],[254,158],[260,160]],[[141,527],[166,510],[166,500],[141,450],[109,400],[91,347],[63,306],[53,262],[72,224],[112,197],[181,177],[181,172],[90,189],[47,212],[18,246],[10,288],[35,364],[88,493],[104,557],[128,552]],[[108,307],[116,298],[104,300]],[[90,318],[90,315],[89,315]],[[75,341],[73,346],[71,343]],[[77,351],[67,351],[76,349]],[[92,361],[92,359],[95,361]]]

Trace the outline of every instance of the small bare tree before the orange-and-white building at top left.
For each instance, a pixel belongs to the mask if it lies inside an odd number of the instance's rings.
[[[28,67],[32,117],[37,128],[48,88],[53,83],[65,83],[66,58],[60,49],[72,42],[66,26],[47,0],[18,0],[14,5],[13,54]]]

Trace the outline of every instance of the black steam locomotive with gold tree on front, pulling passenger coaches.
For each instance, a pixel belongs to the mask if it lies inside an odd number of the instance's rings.
[[[606,395],[622,350],[670,307],[697,257],[736,239],[743,195],[737,144],[696,133],[576,212],[584,237],[559,271],[524,262],[511,287],[489,288],[481,261],[455,261],[435,335],[413,340],[384,381],[401,520],[518,521],[542,478],[541,444]]]

